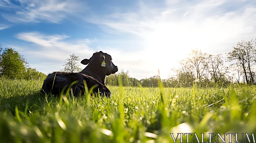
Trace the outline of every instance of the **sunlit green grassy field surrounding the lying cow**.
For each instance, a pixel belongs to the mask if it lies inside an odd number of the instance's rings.
[[[0,80],[0,142],[163,143],[173,142],[170,133],[256,132],[255,86],[109,87],[107,99],[44,96],[43,81]]]

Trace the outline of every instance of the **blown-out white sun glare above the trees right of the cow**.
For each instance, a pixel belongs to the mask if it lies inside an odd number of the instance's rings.
[[[177,67],[178,60],[184,59],[192,49],[202,49],[206,53],[223,53],[234,46],[237,37],[246,33],[244,23],[233,14],[206,19],[175,20],[160,19],[147,26],[152,30],[143,33],[144,52],[150,57],[152,70],[159,68],[162,78],[167,78],[170,69]],[[191,19],[191,20],[190,20]],[[214,40],[213,40],[214,39]],[[234,43],[233,43],[234,41]]]

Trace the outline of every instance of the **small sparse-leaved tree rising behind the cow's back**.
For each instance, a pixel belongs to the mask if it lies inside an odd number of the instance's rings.
[[[66,59],[64,69],[60,70],[62,72],[81,72],[82,68],[79,67],[80,58],[75,54],[69,55],[70,57]]]

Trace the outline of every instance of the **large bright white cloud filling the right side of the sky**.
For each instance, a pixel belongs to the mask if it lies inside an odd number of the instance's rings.
[[[138,11],[114,12],[86,20],[142,37],[144,46],[140,51],[122,53],[130,58],[122,58],[120,64],[132,76],[137,69],[150,71],[143,78],[157,75],[159,68],[162,78],[166,78],[177,61],[192,49],[225,55],[238,41],[256,38],[255,17],[256,5],[252,0],[195,0],[166,1],[163,8],[141,3]],[[131,59],[140,63],[132,63]]]

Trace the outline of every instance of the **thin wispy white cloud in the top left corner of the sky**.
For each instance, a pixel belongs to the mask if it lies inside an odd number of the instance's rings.
[[[75,15],[80,10],[86,9],[81,1],[77,0],[19,0],[18,5],[9,0],[0,2],[1,8],[9,8],[15,13],[2,13],[2,17],[12,23],[47,21],[58,23],[60,20]]]

